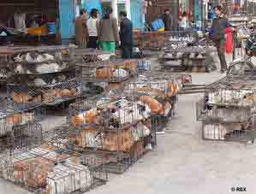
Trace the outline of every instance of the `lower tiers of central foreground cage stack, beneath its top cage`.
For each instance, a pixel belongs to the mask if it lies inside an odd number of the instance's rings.
[[[92,126],[74,127],[68,132],[68,149],[104,156],[104,169],[123,173],[156,144],[156,133],[149,122],[139,122],[123,129],[109,130]]]

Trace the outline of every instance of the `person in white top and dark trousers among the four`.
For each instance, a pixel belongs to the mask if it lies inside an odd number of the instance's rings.
[[[86,22],[88,33],[89,33],[89,42],[88,48],[97,49],[98,48],[98,9],[92,9],[91,17]]]

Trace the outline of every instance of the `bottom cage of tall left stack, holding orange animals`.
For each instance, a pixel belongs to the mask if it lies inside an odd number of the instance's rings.
[[[22,83],[22,84],[21,84]],[[54,73],[39,76],[12,76],[7,84],[8,97],[16,104],[57,104],[79,97],[80,76],[75,73]]]

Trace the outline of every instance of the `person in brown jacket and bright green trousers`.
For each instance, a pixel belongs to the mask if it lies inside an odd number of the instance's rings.
[[[112,16],[113,9],[108,9],[103,19],[99,21],[98,41],[104,51],[115,53],[116,43],[119,43],[116,18]]]

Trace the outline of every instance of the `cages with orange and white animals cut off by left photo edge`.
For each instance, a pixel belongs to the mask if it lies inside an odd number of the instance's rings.
[[[45,116],[45,109],[30,107],[15,109],[9,100],[0,102],[0,152],[14,150],[42,141],[42,126],[39,121]]]

